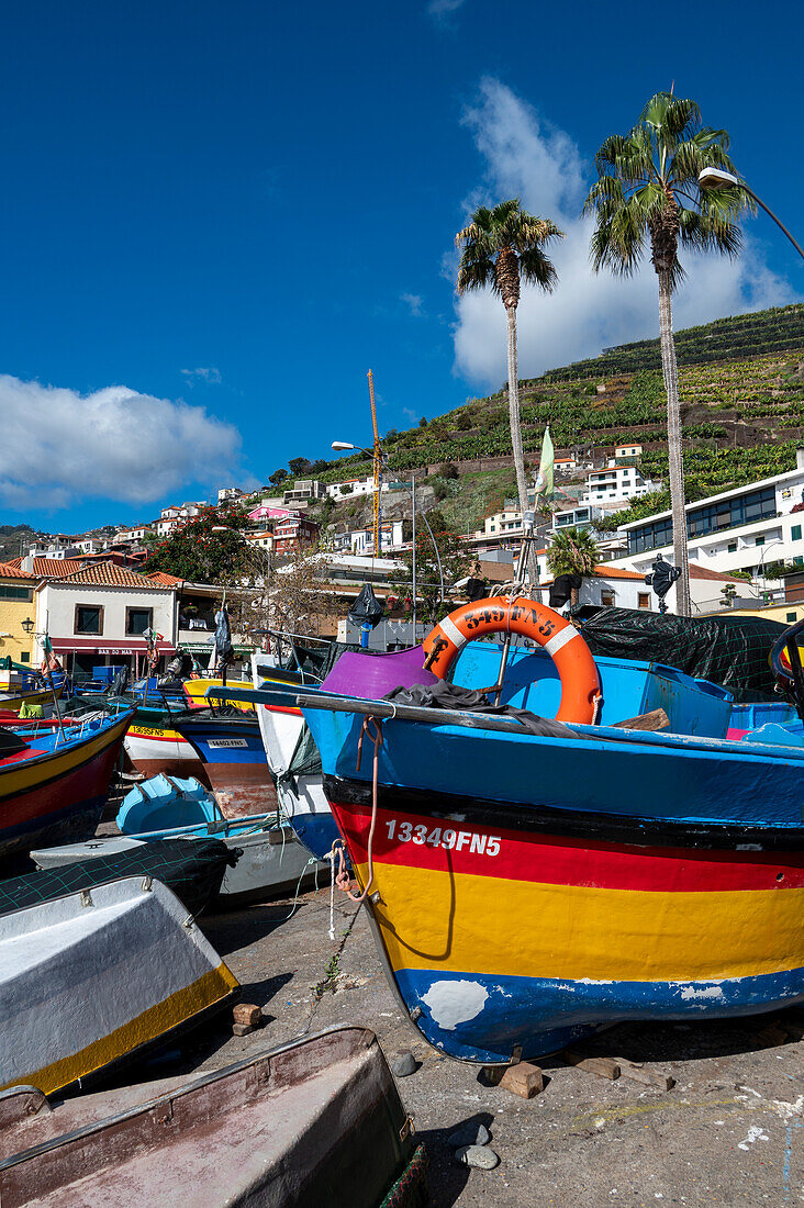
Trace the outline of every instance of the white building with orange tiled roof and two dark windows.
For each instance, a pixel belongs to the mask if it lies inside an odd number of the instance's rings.
[[[158,651],[175,651],[177,587],[112,563],[85,567],[36,587],[36,632],[47,632],[65,670],[100,664],[141,669],[145,629],[162,634]],[[139,662],[139,668],[137,663]]]

